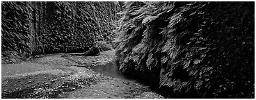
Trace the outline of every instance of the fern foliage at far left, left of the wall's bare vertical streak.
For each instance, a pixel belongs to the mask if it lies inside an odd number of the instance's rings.
[[[16,51],[30,53],[29,4],[27,2],[1,2],[1,44],[2,52]]]

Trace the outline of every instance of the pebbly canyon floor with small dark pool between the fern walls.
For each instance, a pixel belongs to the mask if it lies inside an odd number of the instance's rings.
[[[157,87],[122,75],[113,57],[114,51],[104,51],[100,56],[59,53],[2,65],[1,98],[165,98]]]

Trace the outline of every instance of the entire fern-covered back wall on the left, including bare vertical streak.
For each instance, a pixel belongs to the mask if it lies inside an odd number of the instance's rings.
[[[86,51],[109,42],[115,2],[2,2],[2,51],[26,55]]]

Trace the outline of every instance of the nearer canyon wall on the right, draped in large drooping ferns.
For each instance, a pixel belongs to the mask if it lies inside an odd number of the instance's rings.
[[[253,2],[126,2],[124,74],[188,98],[254,98]]]

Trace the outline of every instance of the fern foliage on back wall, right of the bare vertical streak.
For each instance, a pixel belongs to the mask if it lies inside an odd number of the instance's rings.
[[[41,37],[48,52],[83,52],[97,41],[112,40],[119,10],[113,2],[54,2],[54,7],[54,19]]]

